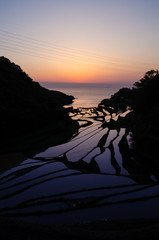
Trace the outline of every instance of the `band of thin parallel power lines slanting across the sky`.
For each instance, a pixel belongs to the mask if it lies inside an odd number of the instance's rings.
[[[58,60],[58,61],[64,61],[64,59],[66,60],[71,58],[71,60],[74,60],[74,63],[77,63],[77,64],[79,64],[80,61],[82,61],[80,64],[91,64],[91,65],[96,64],[99,66],[105,65],[105,67],[108,66],[108,64],[111,64],[111,65],[115,65],[115,68],[120,68],[120,69],[123,69],[123,68],[125,69],[125,67],[130,69],[134,67],[135,69],[136,68],[141,69],[145,67],[145,65],[148,65],[148,63],[138,64],[137,62],[133,63],[132,61],[131,62],[129,61],[129,63],[122,63],[122,61],[119,60],[119,58],[116,58],[116,60],[113,60],[114,58],[109,57],[109,59],[111,60],[106,60],[106,57],[92,54],[90,52],[85,52],[87,53],[87,55],[84,55],[81,53],[77,53],[76,49],[71,49],[64,46],[60,47],[53,43],[39,41],[37,39],[7,32],[1,29],[0,29],[0,36],[1,36],[0,41],[2,43],[1,47],[5,49],[7,49],[8,47],[8,49],[11,50],[11,46],[12,46],[12,49],[17,52],[20,52],[23,49],[25,50],[27,49],[27,53],[26,53],[27,55],[29,53],[34,57],[39,56],[49,61],[51,60],[51,58],[52,60]],[[38,54],[37,54],[37,51],[38,51]],[[55,54],[56,56],[53,56],[53,54]]]

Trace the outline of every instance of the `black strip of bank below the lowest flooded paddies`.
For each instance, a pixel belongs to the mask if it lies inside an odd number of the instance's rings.
[[[157,240],[159,219],[102,221],[78,225],[42,225],[1,218],[0,231],[1,239],[6,240]]]

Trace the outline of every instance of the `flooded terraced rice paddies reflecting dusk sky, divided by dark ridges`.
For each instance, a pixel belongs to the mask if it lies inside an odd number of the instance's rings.
[[[159,216],[156,173],[137,161],[125,129],[104,127],[111,116],[96,108],[71,115],[81,123],[71,141],[0,175],[0,215],[53,223]]]

